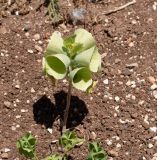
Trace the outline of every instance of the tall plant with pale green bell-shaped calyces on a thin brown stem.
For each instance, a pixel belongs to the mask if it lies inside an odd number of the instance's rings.
[[[72,86],[90,91],[95,85],[92,74],[100,68],[101,56],[91,33],[85,29],[77,29],[64,39],[57,31],[52,34],[43,57],[43,70],[51,79],[67,78],[69,81],[63,129],[66,128]]]

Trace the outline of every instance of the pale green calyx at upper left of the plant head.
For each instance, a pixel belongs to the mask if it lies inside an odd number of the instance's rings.
[[[55,31],[48,43],[47,49],[45,54],[46,55],[52,55],[52,54],[65,54],[63,49],[63,39],[61,37],[60,32]]]

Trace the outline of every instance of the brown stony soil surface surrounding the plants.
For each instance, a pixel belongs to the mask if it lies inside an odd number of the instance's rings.
[[[90,141],[101,142],[109,160],[157,160],[157,2],[59,1],[54,24],[42,0],[0,0],[0,159],[22,160],[16,141],[31,131],[40,157],[58,151],[67,81],[43,75],[41,60],[53,31],[86,28],[102,55],[102,72],[91,94],[73,89],[68,127],[85,143],[71,153],[85,160]],[[85,14],[75,17],[74,8]],[[52,129],[52,130],[51,130]],[[51,133],[52,131],[52,133]],[[51,149],[50,149],[51,148]]]

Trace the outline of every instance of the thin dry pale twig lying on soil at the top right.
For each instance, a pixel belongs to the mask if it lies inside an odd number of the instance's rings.
[[[101,13],[101,15],[109,15],[109,14],[111,14],[111,13],[115,13],[115,12],[117,12],[117,11],[119,11],[119,10],[122,10],[122,9],[124,9],[124,8],[126,8],[126,7],[128,7],[128,6],[130,6],[130,5],[135,4],[135,3],[136,3],[136,0],[132,0],[131,2],[128,2],[128,3],[124,4],[123,6],[115,7],[115,8],[112,9],[112,10],[103,12],[103,13]]]

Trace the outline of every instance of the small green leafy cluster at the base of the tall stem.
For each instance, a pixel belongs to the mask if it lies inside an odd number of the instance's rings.
[[[84,139],[78,138],[74,131],[66,131],[59,139],[59,144],[64,147],[65,151],[69,151],[76,145],[83,143]]]

